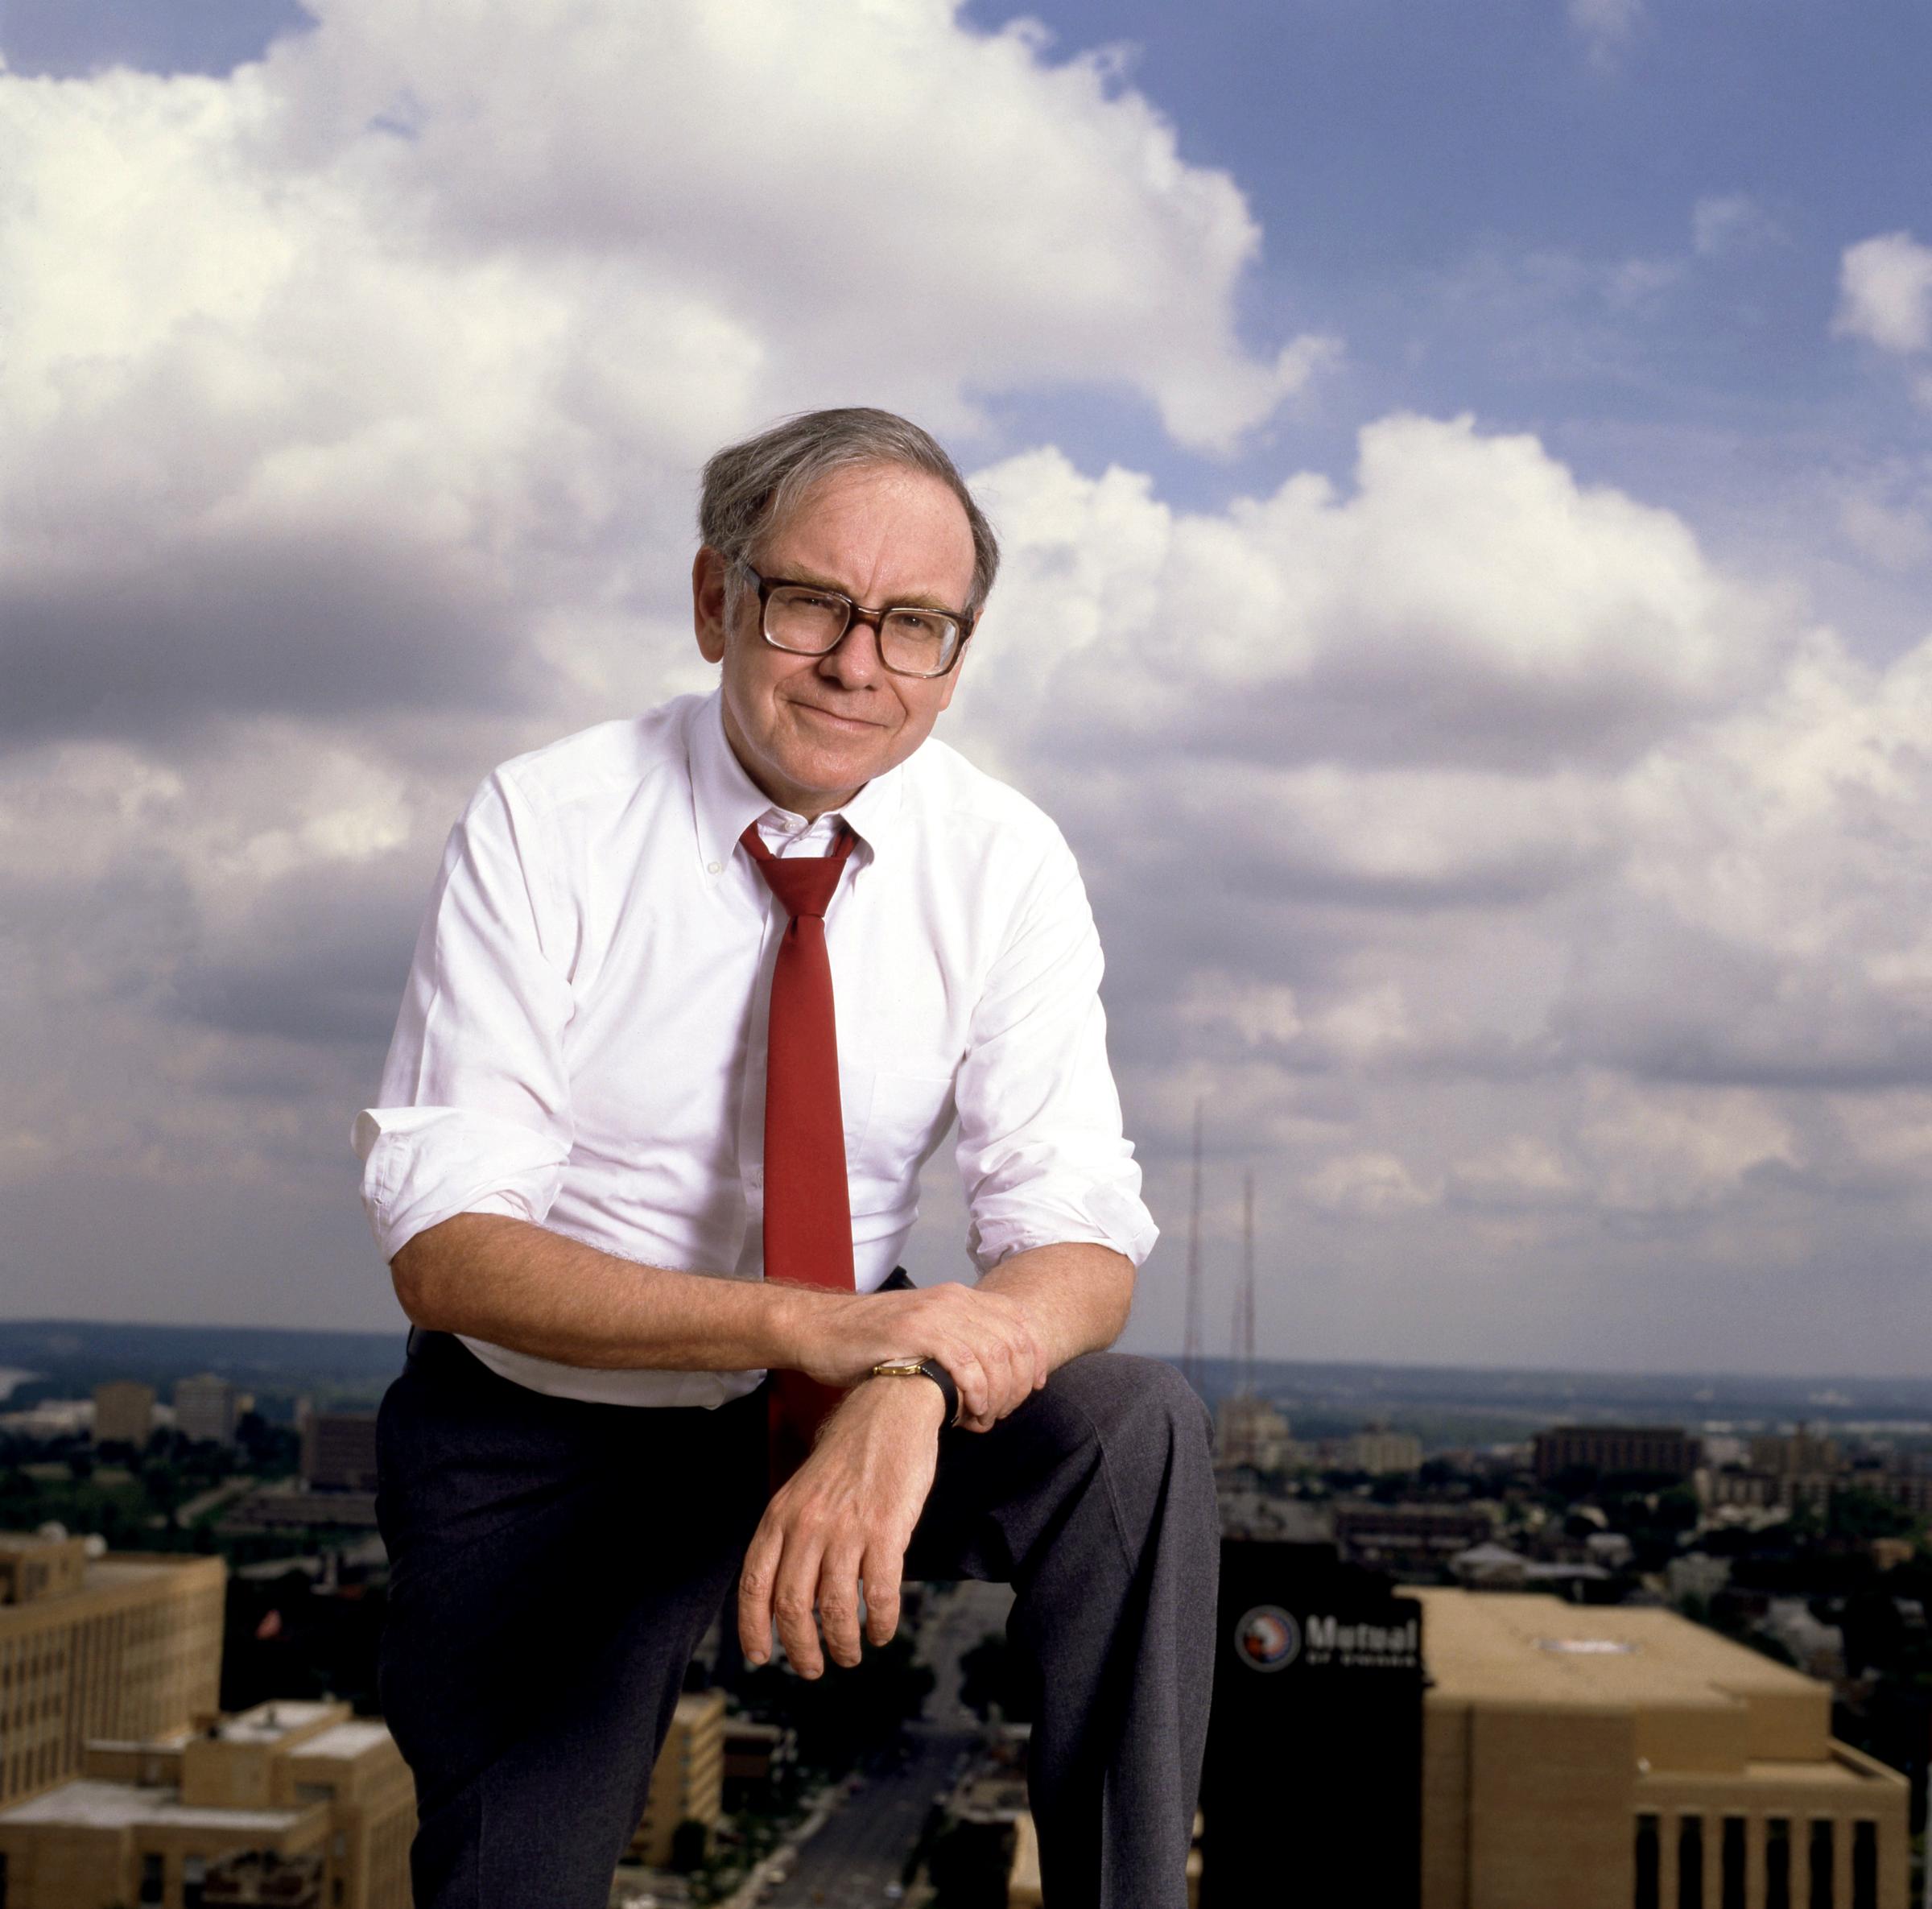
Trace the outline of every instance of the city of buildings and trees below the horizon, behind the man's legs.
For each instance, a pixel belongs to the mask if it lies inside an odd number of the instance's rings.
[[[0,1327],[0,1901],[400,1909],[413,1791],[375,1675],[400,1341],[203,1345],[228,1370],[187,1370],[184,1329]],[[1308,1901],[1920,1899],[1926,1387],[1190,1376],[1223,1523],[1196,1903],[1252,1897],[1283,1834]],[[612,1909],[1039,1903],[1009,1604],[908,1586],[893,1644],[817,1683],[713,1625]]]

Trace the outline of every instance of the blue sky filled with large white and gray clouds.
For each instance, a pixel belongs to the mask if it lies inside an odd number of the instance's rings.
[[[1920,0],[0,0],[0,1308],[386,1327],[442,839],[931,425],[1206,1349],[1932,1358]],[[943,1152],[910,1264],[964,1269]]]

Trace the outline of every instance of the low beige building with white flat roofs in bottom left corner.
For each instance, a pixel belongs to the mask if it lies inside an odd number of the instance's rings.
[[[415,1789],[386,1725],[272,1702],[89,1743],[79,1778],[0,1810],[6,1909],[410,1909]]]

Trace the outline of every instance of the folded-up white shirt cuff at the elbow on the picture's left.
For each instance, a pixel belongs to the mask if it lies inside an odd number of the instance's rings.
[[[456,1213],[543,1223],[570,1148],[516,1121],[464,1107],[365,1107],[352,1144],[361,1196],[384,1260]]]

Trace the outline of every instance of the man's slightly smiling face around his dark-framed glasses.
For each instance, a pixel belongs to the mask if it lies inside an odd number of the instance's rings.
[[[755,553],[769,578],[823,584],[854,603],[958,613],[972,591],[972,527],[960,500],[925,471],[875,464],[813,487]],[[837,649],[798,657],[759,634],[757,591],[724,614],[726,562],[703,549],[692,568],[697,647],[724,665],[724,734],[746,775],[779,808],[823,815],[902,763],[952,701],[960,669],[895,676],[871,624]]]

